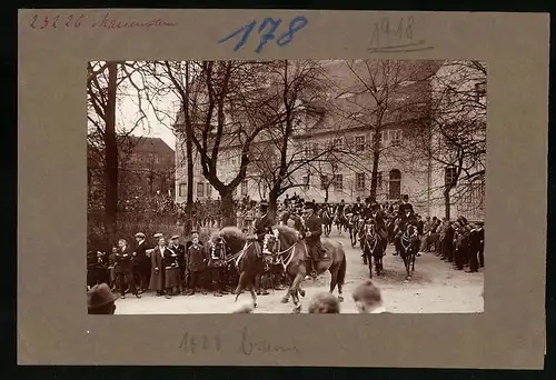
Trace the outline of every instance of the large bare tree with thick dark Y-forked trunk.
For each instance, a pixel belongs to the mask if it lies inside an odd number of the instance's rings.
[[[183,70],[189,73],[183,76]],[[264,62],[250,61],[163,62],[157,73],[183,104],[183,122],[175,126],[176,132],[192,143],[203,177],[219,192],[224,226],[236,222],[232,194],[246,178],[250,147],[274,123],[258,111],[266,109],[267,98],[258,91],[265,73]],[[234,150],[239,168],[231,176],[222,173],[222,157]]]

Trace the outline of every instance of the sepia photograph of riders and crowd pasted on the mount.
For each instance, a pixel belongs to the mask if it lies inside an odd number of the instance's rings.
[[[90,314],[484,311],[486,62],[91,61],[86,86]]]

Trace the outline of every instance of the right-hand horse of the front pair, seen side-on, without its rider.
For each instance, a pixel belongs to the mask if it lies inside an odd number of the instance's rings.
[[[266,237],[267,247],[269,248],[272,262],[280,262],[290,279],[290,287],[282,298],[282,302],[289,301],[291,296],[294,300],[294,312],[301,311],[301,303],[299,302],[299,294],[304,294],[301,282],[307,274],[307,259],[309,257],[309,249],[299,232],[286,226],[276,226],[272,228],[274,234]],[[342,301],[342,286],[346,278],[346,253],[341,242],[332,241],[330,239],[321,239],[322,247],[328,253],[328,259],[317,262],[317,274],[329,271],[330,292],[334,292],[338,286],[338,300]]]

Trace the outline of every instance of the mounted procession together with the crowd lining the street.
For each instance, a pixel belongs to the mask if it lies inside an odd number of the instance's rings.
[[[237,301],[248,291],[256,308],[257,296],[284,290],[281,302],[292,301],[292,312],[301,310],[304,282],[329,272],[328,291],[344,300],[347,258],[344,233],[351,251],[359,251],[368,277],[384,276],[387,247],[404,262],[405,281],[411,279],[416,258],[433,251],[455,269],[474,272],[484,266],[484,228],[465,217],[456,221],[423,220],[408,197],[396,204],[379,204],[371,197],[353,204],[317,204],[301,197],[286,197],[269,212],[265,201],[247,202],[238,212],[238,227],[209,229],[197,223],[188,240],[162,233],[135,234],[135,244],[120,239],[110,254],[88,252],[88,289],[106,282],[120,297],[230,294]],[[274,216],[274,218],[272,218]],[[210,226],[214,222],[209,221]],[[201,237],[201,232],[205,233]],[[155,242],[148,240],[155,239]],[[434,249],[431,249],[434,247]],[[353,262],[353,261],[351,261]]]

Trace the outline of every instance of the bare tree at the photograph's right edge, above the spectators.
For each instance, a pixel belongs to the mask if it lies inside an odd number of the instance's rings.
[[[486,159],[486,64],[447,61],[434,78],[434,97],[427,117],[429,128],[417,130],[411,151],[445,170],[439,187],[445,217],[454,200],[484,181]],[[451,199],[455,198],[455,199]]]

